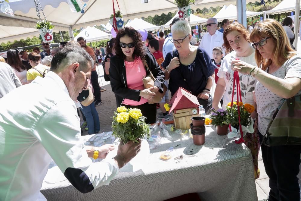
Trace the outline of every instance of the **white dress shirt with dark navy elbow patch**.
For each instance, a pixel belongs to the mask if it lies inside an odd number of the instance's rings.
[[[117,164],[92,163],[80,133],[74,101],[54,72],[0,99],[0,200],[43,197],[39,191],[51,158],[81,192],[110,182]]]

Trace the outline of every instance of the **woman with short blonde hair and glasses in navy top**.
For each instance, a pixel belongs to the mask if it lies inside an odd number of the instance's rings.
[[[169,90],[173,96],[179,87],[197,96],[206,113],[212,106],[210,90],[214,67],[207,52],[190,44],[191,28],[186,20],[179,20],[171,27],[174,50],[167,53],[162,67],[165,79],[169,79]]]

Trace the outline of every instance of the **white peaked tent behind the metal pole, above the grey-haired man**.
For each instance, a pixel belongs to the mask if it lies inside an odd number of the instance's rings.
[[[218,22],[221,22],[224,19],[228,20],[236,20],[237,19],[237,8],[236,6],[230,4],[230,5],[224,5],[222,9],[214,16],[214,18],[217,19]],[[253,17],[256,15],[262,14],[262,12],[252,12],[252,11],[246,11],[247,17]]]

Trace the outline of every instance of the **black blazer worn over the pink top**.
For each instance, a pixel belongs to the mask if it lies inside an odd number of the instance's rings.
[[[159,88],[159,92],[163,93],[163,83],[165,81],[164,72],[160,69],[151,52],[149,52],[148,49],[145,50],[145,52],[145,61],[148,65],[148,68],[150,68],[152,74],[156,78],[154,86],[157,86]],[[146,75],[149,75],[150,72],[148,71],[147,67],[144,66],[144,68]],[[117,55],[111,57],[109,73],[112,91],[115,93],[116,97],[117,107],[122,104],[125,98],[134,101],[140,101],[140,90],[133,90],[127,87],[126,67],[123,58],[120,58]]]

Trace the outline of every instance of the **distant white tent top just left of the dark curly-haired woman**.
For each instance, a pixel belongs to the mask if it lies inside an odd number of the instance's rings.
[[[110,34],[105,33],[99,30],[96,27],[87,27],[82,29],[77,36],[74,37],[74,40],[77,40],[79,37],[84,37],[86,42],[93,42],[103,39],[108,39]]]

